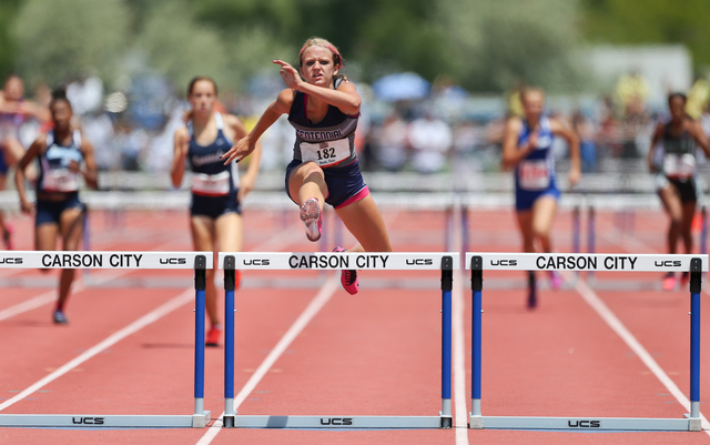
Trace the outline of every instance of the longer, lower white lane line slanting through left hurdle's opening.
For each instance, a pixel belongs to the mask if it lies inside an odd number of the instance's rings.
[[[108,336],[101,343],[95,344],[94,346],[92,346],[89,350],[84,351],[82,354],[78,355],[73,360],[67,362],[61,367],[59,367],[57,371],[52,372],[51,374],[47,375],[44,378],[41,378],[38,382],[36,382],[34,384],[30,385],[29,387],[27,387],[24,391],[22,391],[21,393],[19,393],[14,397],[1,403],[0,404],[0,411],[7,408],[8,406],[11,406],[11,405],[16,404],[17,402],[23,400],[28,395],[30,395],[30,394],[34,393],[36,391],[42,388],[44,385],[55,381],[57,378],[59,378],[62,375],[67,374],[68,372],[70,372],[74,367],[79,366],[80,364],[82,364],[83,362],[85,362],[89,358],[93,357],[94,355],[101,353],[102,351],[108,350],[109,347],[111,347],[112,345],[116,344],[118,342],[120,342],[121,340],[125,338],[126,336],[129,336],[129,335],[142,330],[143,327],[148,326],[149,324],[151,324],[153,322],[156,322],[158,320],[160,320],[163,316],[168,315],[169,313],[173,312],[178,307],[183,306],[183,305],[194,301],[194,297],[195,297],[194,289],[185,290],[180,295],[173,297],[172,300],[168,301],[166,303],[162,304],[161,306],[156,307],[155,310],[151,311],[150,313],[143,315],[142,317],[140,317],[135,322],[133,322],[133,323],[129,324],[128,326],[123,327],[121,331],[118,331],[118,332],[113,333],[112,335]]]

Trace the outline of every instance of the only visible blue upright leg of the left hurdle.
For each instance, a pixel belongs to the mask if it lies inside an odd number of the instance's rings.
[[[206,257],[197,255],[195,256],[195,413],[192,416],[194,428],[204,428],[210,417],[210,412],[204,411],[204,302],[206,285]]]

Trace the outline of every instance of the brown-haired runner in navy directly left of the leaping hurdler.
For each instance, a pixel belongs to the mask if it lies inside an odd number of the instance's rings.
[[[242,178],[236,163],[224,165],[222,155],[235,140],[246,135],[246,129],[237,117],[215,112],[216,100],[217,87],[212,79],[197,77],[190,82],[187,101],[192,110],[187,124],[175,132],[170,175],[179,188],[187,159],[192,171],[190,229],[195,251],[239,252],[243,244],[242,201],[254,188],[261,148],[254,151]],[[206,279],[205,305],[211,327],[205,344],[217,346],[222,323],[213,270],[207,270]]]

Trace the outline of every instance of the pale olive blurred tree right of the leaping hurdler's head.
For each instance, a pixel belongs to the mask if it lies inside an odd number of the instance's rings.
[[[551,91],[576,90],[576,0],[442,0],[446,32],[442,72],[474,91],[504,91],[516,81]]]

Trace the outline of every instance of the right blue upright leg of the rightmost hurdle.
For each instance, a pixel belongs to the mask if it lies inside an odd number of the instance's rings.
[[[700,289],[702,260],[690,261],[690,424],[688,429],[701,431],[700,421]]]

